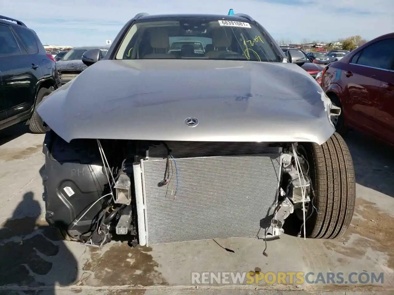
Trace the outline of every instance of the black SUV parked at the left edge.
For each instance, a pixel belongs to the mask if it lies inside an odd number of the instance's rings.
[[[49,128],[36,107],[59,87],[56,63],[23,22],[0,15],[0,129],[26,122],[33,133]]]

